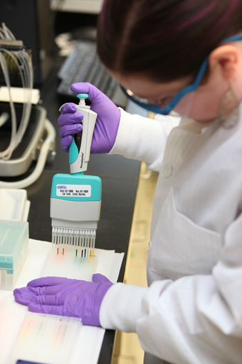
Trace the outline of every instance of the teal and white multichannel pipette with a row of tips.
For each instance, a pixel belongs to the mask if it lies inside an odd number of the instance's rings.
[[[77,94],[77,97],[80,98],[77,112],[84,115],[83,130],[73,135],[69,148],[71,175],[53,177],[50,198],[52,243],[57,254],[71,250],[84,256],[89,251],[92,256],[100,218],[102,181],[100,177],[84,175],[84,171],[89,162],[97,114],[85,103],[88,94]]]

